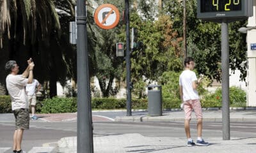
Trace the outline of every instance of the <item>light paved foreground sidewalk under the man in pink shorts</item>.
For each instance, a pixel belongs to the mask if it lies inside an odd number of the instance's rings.
[[[108,135],[93,136],[93,150],[97,153],[216,153],[216,152],[233,152],[248,153],[255,152],[256,138],[241,138],[232,140],[221,140],[221,138],[209,138],[207,141],[211,143],[205,147],[187,147],[186,139],[168,138],[168,137],[145,137],[140,134],[125,135]],[[59,152],[75,153],[76,137],[62,138],[58,144],[67,145],[67,147],[59,147]]]

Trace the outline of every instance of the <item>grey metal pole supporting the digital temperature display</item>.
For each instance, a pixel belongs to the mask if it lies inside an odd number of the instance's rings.
[[[222,73],[222,135],[223,140],[230,140],[230,113],[229,113],[229,47],[228,23],[221,23],[221,73]]]

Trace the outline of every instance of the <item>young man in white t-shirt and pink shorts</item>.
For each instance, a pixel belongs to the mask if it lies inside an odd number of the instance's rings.
[[[182,100],[185,112],[185,131],[186,136],[188,138],[188,146],[193,145],[209,145],[209,143],[204,142],[202,139],[202,106],[200,103],[200,99],[198,96],[198,92],[196,88],[198,84],[200,84],[201,79],[196,78],[195,72],[192,70],[195,67],[194,59],[191,57],[187,57],[184,60],[185,69],[182,71],[180,78],[179,78],[179,85],[180,85],[180,99]],[[191,112],[194,110],[197,119],[197,141],[196,143],[193,142],[190,135],[190,127],[189,123],[191,120]]]

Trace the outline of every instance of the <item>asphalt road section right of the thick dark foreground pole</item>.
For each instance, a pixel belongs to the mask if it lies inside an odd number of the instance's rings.
[[[111,134],[140,133],[143,136],[168,136],[186,138],[183,122],[97,122],[94,132]],[[230,136],[233,138],[256,137],[256,122],[231,122]],[[191,122],[191,136],[196,137],[196,122]],[[204,138],[220,137],[222,139],[222,122],[204,122]]]

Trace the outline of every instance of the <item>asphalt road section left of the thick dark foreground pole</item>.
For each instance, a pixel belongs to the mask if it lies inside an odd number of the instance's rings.
[[[15,126],[14,122],[1,122],[0,123],[0,148],[1,147],[12,147],[12,136]],[[33,147],[42,147],[44,143],[58,142],[60,138],[75,136],[76,131],[74,128],[72,130],[66,130],[70,123],[32,123],[29,130],[24,131],[22,149],[30,150]],[[73,123],[76,124],[76,123]],[[61,129],[61,126],[63,127]],[[49,128],[52,127],[52,128]],[[54,129],[54,127],[58,127]],[[73,125],[74,127],[74,125]]]

